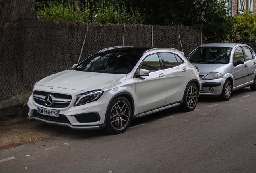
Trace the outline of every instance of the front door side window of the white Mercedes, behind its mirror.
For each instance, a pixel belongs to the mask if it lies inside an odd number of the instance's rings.
[[[140,65],[140,68],[155,72],[161,70],[160,61],[157,54],[149,55]]]

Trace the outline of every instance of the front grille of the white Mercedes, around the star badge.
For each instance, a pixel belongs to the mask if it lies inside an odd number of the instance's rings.
[[[51,95],[52,97],[52,105],[46,105],[45,104],[45,97],[47,95]],[[43,105],[46,107],[51,108],[65,108],[68,107],[72,96],[71,95],[65,95],[65,94],[59,94],[59,93],[50,93],[45,91],[34,91],[33,98],[36,103],[39,105]]]

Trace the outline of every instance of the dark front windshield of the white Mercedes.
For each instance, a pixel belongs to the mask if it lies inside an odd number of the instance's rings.
[[[72,70],[128,74],[141,56],[140,54],[97,53],[72,68]]]

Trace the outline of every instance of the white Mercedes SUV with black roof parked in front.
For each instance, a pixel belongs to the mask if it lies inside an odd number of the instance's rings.
[[[124,132],[134,118],[196,107],[199,70],[173,48],[105,48],[35,83],[28,119],[72,129]]]

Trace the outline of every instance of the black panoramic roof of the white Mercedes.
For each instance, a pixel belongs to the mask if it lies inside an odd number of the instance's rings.
[[[145,51],[153,49],[152,47],[132,47],[132,46],[122,46],[122,47],[111,47],[100,50],[99,53],[125,53],[125,54],[143,54]]]

